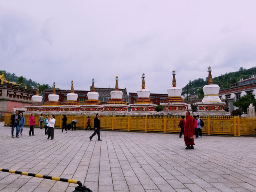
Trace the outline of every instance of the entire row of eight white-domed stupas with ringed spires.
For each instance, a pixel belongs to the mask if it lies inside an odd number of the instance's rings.
[[[225,102],[221,102],[218,92],[220,87],[212,84],[211,68],[208,67],[208,85],[204,86],[204,98],[202,102],[197,103],[197,111],[194,114],[199,115],[228,115],[228,112],[223,110]],[[26,107],[27,111],[31,112],[85,112],[86,114],[170,114],[184,115],[184,112],[189,110],[189,104],[184,103],[181,98],[182,88],[176,87],[175,71],[172,72],[172,87],[168,88],[168,98],[165,103],[161,103],[163,110],[156,112],[157,105],[152,104],[150,99],[150,90],[145,88],[145,74],[142,74],[142,88],[137,91],[138,98],[135,104],[128,105],[123,99],[123,92],[118,90],[118,76],[116,76],[115,90],[110,92],[111,99],[102,104],[98,100],[99,94],[95,92],[94,78],[92,79],[92,90],[88,92],[88,100],[85,100],[81,105],[77,101],[78,94],[74,93],[73,80],[71,82],[71,91],[67,94],[67,100],[62,104],[59,102],[59,96],[55,92],[55,82],[53,84],[53,92],[48,95],[48,102],[42,105],[42,96],[39,96],[38,86],[36,95],[32,96],[32,106]],[[128,112],[128,108],[130,111]],[[191,110],[191,108],[190,108]]]

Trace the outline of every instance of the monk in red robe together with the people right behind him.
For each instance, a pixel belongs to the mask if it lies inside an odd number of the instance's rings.
[[[202,127],[204,126],[204,122],[200,119],[200,116],[190,116],[190,112],[186,112],[186,121],[184,120],[185,116],[181,116],[180,123],[178,126],[180,127],[180,138],[182,133],[184,134],[184,141],[186,148],[185,149],[194,149],[194,133],[196,134],[196,139],[202,136]]]

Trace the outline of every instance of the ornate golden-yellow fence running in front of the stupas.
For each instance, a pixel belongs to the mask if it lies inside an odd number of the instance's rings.
[[[76,127],[86,128],[87,115],[66,115],[67,123],[71,123],[73,119],[77,120]],[[11,115],[5,115],[4,124],[10,125]],[[25,125],[29,125],[30,115],[24,115]],[[62,115],[55,115],[56,127],[62,127]],[[39,126],[39,115],[34,116],[36,126]],[[45,116],[44,116],[45,118]],[[94,126],[91,116],[91,126]],[[202,117],[204,127],[203,134],[226,134],[226,135],[253,135],[252,130],[256,128],[255,117]],[[180,117],[177,116],[100,116],[100,123],[102,129],[109,130],[127,130],[127,131],[150,131],[150,132],[180,132],[178,124]]]

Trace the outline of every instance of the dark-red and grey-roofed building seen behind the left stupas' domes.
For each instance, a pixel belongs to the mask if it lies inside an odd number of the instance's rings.
[[[98,92],[99,94],[99,100],[102,102],[102,104],[105,104],[108,99],[111,98],[110,92],[115,90],[115,88],[95,88],[95,92]],[[126,92],[126,89],[119,89],[120,91],[123,92],[123,99],[125,102],[128,104],[128,95]],[[87,93],[90,92],[90,90],[74,90],[74,93],[78,94],[78,101],[82,105],[85,100],[87,100]],[[60,96],[59,101],[60,102],[65,102],[67,100],[67,94],[70,93],[70,90],[61,90],[61,89],[56,89],[56,94]],[[44,89],[42,91],[42,96],[43,96],[43,104],[48,101],[48,95],[52,94],[52,89]]]

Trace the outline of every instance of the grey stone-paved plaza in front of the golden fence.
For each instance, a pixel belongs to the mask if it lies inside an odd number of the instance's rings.
[[[0,168],[74,180],[93,192],[256,192],[256,138],[203,136],[186,150],[178,134],[44,129],[11,137],[0,123]],[[16,130],[14,131],[16,133]],[[76,184],[0,172],[1,192],[72,192]]]

